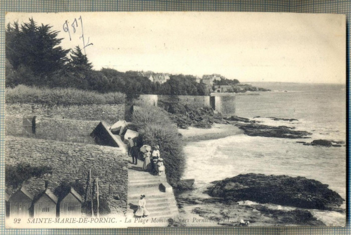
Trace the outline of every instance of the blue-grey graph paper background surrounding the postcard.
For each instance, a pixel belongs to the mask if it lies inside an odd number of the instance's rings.
[[[349,32],[351,0],[0,0],[0,188],[5,188],[4,103],[5,103],[5,13],[6,12],[90,12],[90,11],[223,11],[223,12],[294,12],[345,14],[347,20],[347,72],[349,72]],[[347,73],[347,79],[348,79]],[[347,86],[348,86],[347,82]],[[347,95],[349,97],[349,94]],[[349,103],[347,102],[349,105]],[[349,119],[348,119],[349,123]],[[349,142],[348,142],[349,145]],[[348,154],[349,154],[349,150]],[[347,167],[349,159],[347,159]],[[348,167],[348,181],[349,181]],[[349,188],[348,188],[349,191]],[[349,198],[349,194],[347,196]],[[348,201],[349,203],[349,201]],[[0,234],[350,234],[350,209],[346,227],[197,227],[197,228],[129,228],[129,229],[5,229],[4,190],[0,190]]]

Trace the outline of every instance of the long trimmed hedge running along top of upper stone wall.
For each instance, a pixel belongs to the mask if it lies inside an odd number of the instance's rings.
[[[125,95],[119,92],[101,94],[74,88],[37,88],[18,85],[6,89],[6,103],[38,103],[53,105],[122,104]]]

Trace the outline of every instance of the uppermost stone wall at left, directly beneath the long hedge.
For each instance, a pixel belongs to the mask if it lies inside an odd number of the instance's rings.
[[[45,106],[42,104],[6,104],[10,116],[40,116],[76,120],[103,120],[110,124],[124,119],[124,104]]]

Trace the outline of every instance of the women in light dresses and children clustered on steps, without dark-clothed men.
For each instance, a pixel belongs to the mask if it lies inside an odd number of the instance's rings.
[[[152,158],[151,158],[152,157]],[[144,165],[142,166],[142,169],[151,172],[154,175],[161,176],[164,172],[164,165],[163,165],[163,159],[160,157],[159,154],[159,146],[156,145],[154,146],[154,149],[146,149],[146,151],[143,154],[144,158]],[[152,163],[151,163],[152,160]]]

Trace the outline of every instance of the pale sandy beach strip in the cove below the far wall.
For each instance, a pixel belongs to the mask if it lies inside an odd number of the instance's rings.
[[[189,127],[188,129],[178,129],[178,131],[182,134],[183,140],[187,142],[220,139],[243,133],[241,129],[234,125],[218,123],[214,123],[212,128],[209,129]]]

